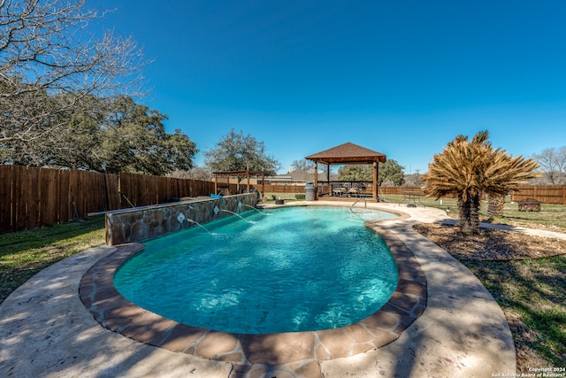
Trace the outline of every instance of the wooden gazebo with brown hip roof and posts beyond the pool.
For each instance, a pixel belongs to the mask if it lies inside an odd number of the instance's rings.
[[[378,173],[379,163],[386,162],[386,156],[381,152],[369,150],[354,143],[344,143],[306,157],[315,162],[315,188],[318,188],[318,163],[325,164],[326,181],[330,182],[330,166],[346,164],[371,164],[373,165],[373,187],[372,195],[375,201],[378,197]],[[330,190],[330,189],[329,189]],[[329,193],[330,194],[330,193]],[[315,199],[318,199],[318,189],[315,191]]]

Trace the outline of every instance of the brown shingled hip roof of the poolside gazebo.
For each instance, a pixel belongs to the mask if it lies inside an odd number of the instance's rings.
[[[386,162],[386,156],[381,152],[366,149],[354,143],[344,143],[310,155],[309,160],[324,164],[369,164],[373,162]]]

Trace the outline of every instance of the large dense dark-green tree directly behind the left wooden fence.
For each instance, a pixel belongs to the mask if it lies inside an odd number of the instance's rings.
[[[57,123],[58,132],[41,133],[42,143],[0,141],[2,163],[155,175],[193,166],[195,143],[180,130],[166,133],[167,117],[131,97],[83,96],[77,104],[73,96],[45,93],[37,102],[59,109],[45,120]],[[75,104],[65,107],[65,102]],[[35,111],[41,114],[41,109]]]

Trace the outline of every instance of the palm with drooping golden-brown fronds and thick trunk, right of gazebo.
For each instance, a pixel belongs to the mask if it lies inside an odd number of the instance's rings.
[[[459,227],[464,233],[478,233],[479,203],[484,193],[506,195],[538,175],[534,160],[514,158],[506,150],[493,149],[488,135],[487,131],[480,131],[471,141],[467,136],[456,136],[442,153],[432,157],[429,171],[423,175],[427,195],[457,198]]]

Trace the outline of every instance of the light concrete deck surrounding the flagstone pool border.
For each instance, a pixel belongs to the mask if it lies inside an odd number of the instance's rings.
[[[294,203],[301,204],[301,203]],[[338,205],[336,202],[303,204]],[[343,205],[350,205],[343,204]],[[83,275],[115,251],[99,247],[44,269],[0,305],[0,375],[14,377],[491,377],[516,372],[509,326],[478,279],[436,244],[412,230],[447,221],[432,208],[368,207],[404,212],[371,228],[395,235],[413,252],[428,285],[424,313],[392,343],[351,357],[320,359],[309,369],[199,359],[138,343],[103,328],[80,301]]]

